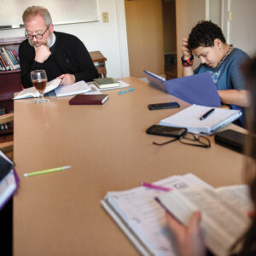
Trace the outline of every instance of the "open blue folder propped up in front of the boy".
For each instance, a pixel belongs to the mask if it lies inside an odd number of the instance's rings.
[[[172,96],[188,102],[189,104],[207,107],[218,107],[221,105],[218,90],[213,82],[211,73],[199,73],[180,79],[165,81],[154,73],[144,71],[149,84],[157,89],[166,91]]]

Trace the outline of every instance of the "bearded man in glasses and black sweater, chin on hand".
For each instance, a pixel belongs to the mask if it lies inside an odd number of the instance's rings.
[[[44,69],[48,80],[62,79],[68,85],[98,78],[96,67],[84,44],[73,35],[54,32],[49,11],[40,6],[28,7],[22,19],[26,40],[20,44],[20,78],[25,88],[32,87],[32,70]]]

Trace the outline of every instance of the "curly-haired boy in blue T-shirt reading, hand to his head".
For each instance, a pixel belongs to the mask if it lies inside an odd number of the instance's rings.
[[[227,44],[217,25],[211,21],[200,21],[189,38],[183,38],[182,52],[183,76],[210,72],[224,104],[248,107],[240,66],[249,57],[241,49]],[[195,70],[194,55],[201,60],[201,65]]]

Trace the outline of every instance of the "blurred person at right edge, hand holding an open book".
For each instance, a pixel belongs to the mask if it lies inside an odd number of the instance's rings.
[[[247,90],[250,98],[256,97],[256,57],[247,63],[245,68]],[[250,108],[247,108],[247,141],[245,165],[246,182],[250,187],[250,195],[256,209],[256,102],[252,101]],[[252,223],[247,232],[230,248],[232,256],[254,256],[256,255],[256,211],[248,212]],[[189,220],[189,226],[184,227],[175,218],[166,213],[167,223],[177,238],[177,246],[180,256],[205,256],[207,250],[201,234],[200,221],[201,213],[194,212]]]

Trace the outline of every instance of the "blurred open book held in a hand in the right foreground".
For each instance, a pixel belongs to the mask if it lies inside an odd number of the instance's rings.
[[[253,209],[246,185],[221,189],[173,189],[157,196],[160,204],[184,225],[192,212],[201,211],[201,229],[207,247],[216,256],[229,254],[230,247],[247,230]]]

